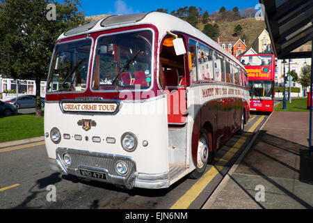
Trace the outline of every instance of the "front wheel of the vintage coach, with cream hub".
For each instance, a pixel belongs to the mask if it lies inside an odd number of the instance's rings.
[[[204,174],[207,163],[211,162],[212,157],[214,157],[214,153],[209,152],[210,148],[212,148],[212,134],[211,132],[208,134],[206,130],[201,130],[198,141],[197,166],[195,170],[191,172],[191,178],[198,179]]]

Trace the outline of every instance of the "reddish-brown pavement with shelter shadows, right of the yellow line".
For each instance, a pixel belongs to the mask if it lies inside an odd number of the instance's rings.
[[[273,112],[202,209],[312,209],[309,120]]]

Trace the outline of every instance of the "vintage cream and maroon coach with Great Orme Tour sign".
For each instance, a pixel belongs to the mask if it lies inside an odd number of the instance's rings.
[[[52,170],[131,189],[199,178],[249,118],[244,67],[166,13],[106,17],[63,33],[47,78]]]

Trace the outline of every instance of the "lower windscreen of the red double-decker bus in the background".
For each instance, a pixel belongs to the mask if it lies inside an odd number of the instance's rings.
[[[249,81],[250,97],[252,99],[273,99],[274,82]]]

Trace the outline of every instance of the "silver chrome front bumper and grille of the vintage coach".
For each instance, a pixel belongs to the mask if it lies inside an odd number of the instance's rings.
[[[65,164],[63,157],[70,155],[70,165]],[[120,174],[116,164],[122,162],[127,165],[127,174]],[[58,148],[56,159],[49,159],[50,169],[63,175],[74,175],[113,185],[123,185],[127,189],[141,187],[147,189],[161,189],[170,186],[169,173],[143,174],[137,173],[136,162],[131,157],[111,155],[106,153],[92,153],[69,148]]]

